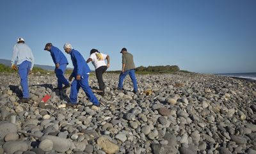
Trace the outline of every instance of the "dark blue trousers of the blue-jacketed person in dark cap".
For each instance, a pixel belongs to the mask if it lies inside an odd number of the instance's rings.
[[[68,85],[67,79],[64,77],[64,74],[67,69],[67,64],[60,65],[58,69],[55,69],[55,74],[58,79],[58,88],[62,88],[62,84]]]

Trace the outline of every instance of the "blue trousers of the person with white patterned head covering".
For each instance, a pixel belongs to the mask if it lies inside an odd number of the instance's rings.
[[[90,102],[93,103],[93,105],[100,104],[99,100],[93,94],[92,89],[89,86],[88,77],[89,77],[89,75],[86,74],[86,75],[81,76],[81,80],[77,81],[76,79],[74,79],[74,81],[72,82],[71,89],[70,89],[70,101],[72,104],[77,103],[77,93],[80,88],[83,89],[84,93],[89,98]]]

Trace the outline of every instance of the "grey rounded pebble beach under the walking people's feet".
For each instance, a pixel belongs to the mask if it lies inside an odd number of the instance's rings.
[[[92,89],[98,87],[90,75]],[[256,81],[178,73],[127,77],[105,73],[105,104],[92,106],[80,89],[54,91],[54,75],[29,75],[31,101],[18,104],[17,73],[0,73],[0,153],[231,154],[256,153]],[[41,102],[45,95],[51,98]]]

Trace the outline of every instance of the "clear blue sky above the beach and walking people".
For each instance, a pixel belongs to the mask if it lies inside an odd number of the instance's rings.
[[[1,59],[18,37],[35,63],[54,65],[44,45],[70,42],[87,59],[109,54],[120,70],[122,47],[136,66],[178,65],[200,73],[256,72],[256,1],[1,1]],[[70,61],[70,56],[65,54]],[[92,64],[89,65],[93,69]]]

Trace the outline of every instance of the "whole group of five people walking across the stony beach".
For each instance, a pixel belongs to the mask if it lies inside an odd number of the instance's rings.
[[[73,72],[71,73],[68,80],[65,78],[65,72],[67,70],[68,60],[63,54],[63,52],[52,45],[52,43],[47,43],[44,50],[47,50],[51,53],[52,61],[55,65],[54,73],[57,77],[57,87],[54,89],[63,90],[67,88],[70,89],[70,101],[67,106],[74,106],[77,104],[77,93],[80,88],[83,89],[84,93],[88,97],[88,100],[93,103],[93,105],[99,106],[100,102],[93,94],[92,89],[89,86],[88,78],[91,72],[87,63],[92,61],[93,66],[95,66],[95,73],[99,83],[99,95],[105,95],[105,84],[103,81],[103,73],[110,66],[110,58],[107,54],[102,54],[97,49],[90,50],[90,58],[86,61],[83,56],[77,50],[72,48],[70,43],[65,43],[63,49],[67,54],[70,54],[72,64],[74,66]],[[135,65],[133,61],[133,56],[131,53],[127,52],[127,49],[123,48],[120,53],[122,53],[122,72],[119,76],[118,90],[123,90],[123,82],[126,75],[132,79],[133,83],[133,92],[138,92],[138,86],[135,76]],[[105,62],[105,59],[108,63]],[[19,103],[29,102],[29,86],[28,86],[28,75],[33,70],[35,63],[35,58],[33,56],[32,50],[25,44],[23,38],[18,38],[17,43],[13,47],[13,56],[12,56],[12,69],[19,70],[20,84],[22,86],[22,98],[20,98]],[[18,66],[18,67],[17,67]],[[73,80],[74,79],[74,80]],[[73,80],[73,81],[72,81]],[[72,81],[70,85],[68,81]],[[64,86],[63,86],[64,85]]]

